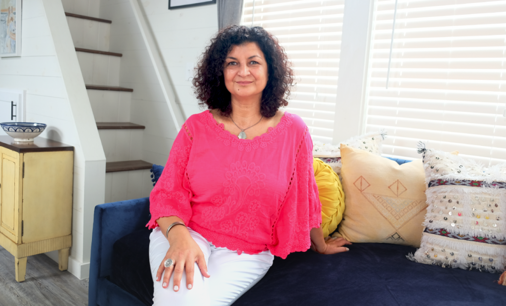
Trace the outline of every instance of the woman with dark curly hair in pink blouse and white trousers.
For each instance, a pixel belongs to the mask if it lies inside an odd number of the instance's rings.
[[[308,129],[279,111],[288,65],[261,27],[230,26],[206,48],[193,85],[209,110],[183,124],[150,196],[154,305],[229,305],[274,256],[348,250],[319,228]]]

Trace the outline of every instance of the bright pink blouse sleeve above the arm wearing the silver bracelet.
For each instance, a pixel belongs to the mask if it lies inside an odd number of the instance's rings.
[[[149,229],[158,226],[156,220],[160,217],[176,216],[185,224],[190,221],[192,191],[186,176],[186,166],[192,142],[192,134],[185,123],[174,140],[165,168],[149,196],[151,220],[146,225]]]

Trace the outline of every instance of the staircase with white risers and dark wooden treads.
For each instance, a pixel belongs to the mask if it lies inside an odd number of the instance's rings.
[[[77,5],[68,0],[63,6],[105,152],[105,202],[149,196],[152,164],[142,160],[145,127],[130,122],[134,89],[119,86],[122,55],[109,52],[112,22],[76,14]],[[98,15],[99,6],[100,1],[90,1],[88,12]]]

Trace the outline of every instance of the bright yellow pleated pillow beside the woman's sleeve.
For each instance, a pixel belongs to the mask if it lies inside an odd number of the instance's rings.
[[[327,237],[343,219],[345,194],[338,175],[330,166],[313,158],[313,168],[321,202],[321,228],[323,237]]]

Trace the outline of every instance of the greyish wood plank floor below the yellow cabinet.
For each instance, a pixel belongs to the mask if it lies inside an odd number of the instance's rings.
[[[45,254],[28,257],[24,282],[14,277],[14,256],[0,246],[0,305],[88,305],[88,279],[58,270]]]

